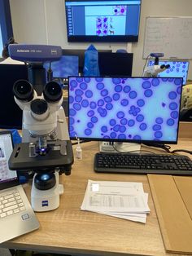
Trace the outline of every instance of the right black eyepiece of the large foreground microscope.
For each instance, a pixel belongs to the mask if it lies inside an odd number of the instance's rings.
[[[59,83],[54,81],[48,82],[44,87],[43,96],[48,103],[56,103],[62,98],[63,90]]]

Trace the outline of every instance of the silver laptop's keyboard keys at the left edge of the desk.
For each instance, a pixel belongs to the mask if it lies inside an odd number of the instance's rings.
[[[0,218],[17,214],[25,210],[20,193],[17,190],[0,195]]]

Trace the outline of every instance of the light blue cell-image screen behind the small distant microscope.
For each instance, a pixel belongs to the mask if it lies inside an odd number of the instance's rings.
[[[169,64],[170,67],[165,69],[164,72],[158,74],[158,77],[183,77],[183,85],[186,84],[189,61],[159,61],[159,65]],[[153,66],[154,60],[148,61],[148,66]]]

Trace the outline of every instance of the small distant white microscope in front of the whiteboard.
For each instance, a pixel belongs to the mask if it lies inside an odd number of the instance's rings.
[[[157,75],[170,67],[169,64],[159,65],[159,58],[164,57],[163,53],[151,53],[151,57],[155,57],[154,65],[144,69],[142,77],[157,77]]]

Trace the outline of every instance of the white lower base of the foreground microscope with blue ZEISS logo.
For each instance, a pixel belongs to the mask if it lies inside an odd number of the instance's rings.
[[[63,194],[63,184],[59,184],[59,173],[55,172],[56,184],[54,188],[39,190],[35,188],[34,178],[31,191],[31,205],[34,211],[43,212],[55,210],[59,207],[59,196]]]

